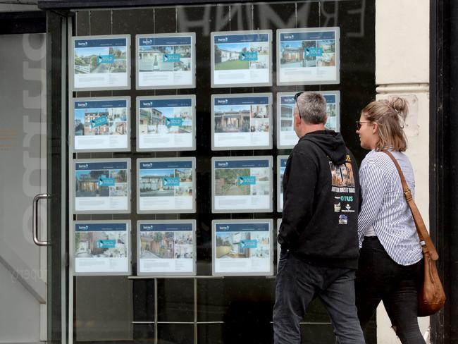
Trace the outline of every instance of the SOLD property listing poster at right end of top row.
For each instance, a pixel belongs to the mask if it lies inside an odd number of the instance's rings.
[[[339,39],[339,27],[277,30],[277,84],[338,84]]]

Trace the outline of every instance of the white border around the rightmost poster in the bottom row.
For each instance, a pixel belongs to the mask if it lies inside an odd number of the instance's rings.
[[[217,223],[268,223],[270,262],[269,271],[259,272],[218,272],[216,271],[216,224]],[[212,276],[273,276],[273,219],[239,219],[211,221],[211,274]]]

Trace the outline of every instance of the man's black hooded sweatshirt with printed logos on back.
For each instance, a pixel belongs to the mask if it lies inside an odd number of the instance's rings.
[[[301,137],[283,174],[278,242],[309,264],[357,269],[359,178],[342,135]]]

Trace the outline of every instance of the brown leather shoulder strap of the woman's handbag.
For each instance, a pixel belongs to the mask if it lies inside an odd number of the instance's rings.
[[[394,156],[392,156],[390,152],[388,152],[387,150],[382,150],[380,152],[383,152],[387,154],[388,156],[390,156],[392,162],[395,163],[397,172],[399,173],[401,177],[402,190],[404,192],[404,197],[407,201],[407,204],[409,204],[410,211],[412,213],[412,216],[414,217],[415,227],[416,227],[417,233],[419,234],[419,239],[420,239],[421,249],[423,250],[423,254],[430,254],[431,259],[438,260],[439,254],[435,250],[433,241],[431,240],[431,237],[429,236],[429,233],[426,230],[426,226],[425,226],[425,223],[423,222],[423,218],[421,217],[420,211],[416,207],[414,199],[412,198],[411,191],[404,178],[404,173],[402,173],[401,166],[398,164],[397,160],[395,159]]]

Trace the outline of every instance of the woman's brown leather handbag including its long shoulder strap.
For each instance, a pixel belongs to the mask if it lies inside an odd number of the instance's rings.
[[[401,167],[390,152],[385,150],[382,152],[388,154],[388,156],[390,156],[392,161],[395,163],[397,172],[399,172],[401,177],[404,197],[407,201],[407,204],[409,204],[412,216],[414,217],[416,231],[419,233],[421,250],[423,250],[425,274],[423,285],[421,285],[421,289],[419,290],[418,316],[428,317],[428,315],[432,315],[435,312],[438,312],[442,307],[444,307],[445,304],[444,288],[442,287],[442,283],[440,283],[438,268],[435,266],[435,261],[439,259],[439,255],[435,250],[433,241],[431,241],[428,231],[426,231],[426,226],[423,222],[423,219],[421,218],[420,211],[416,207],[414,199],[412,199],[409,186],[407,186],[404,174],[401,171]]]

